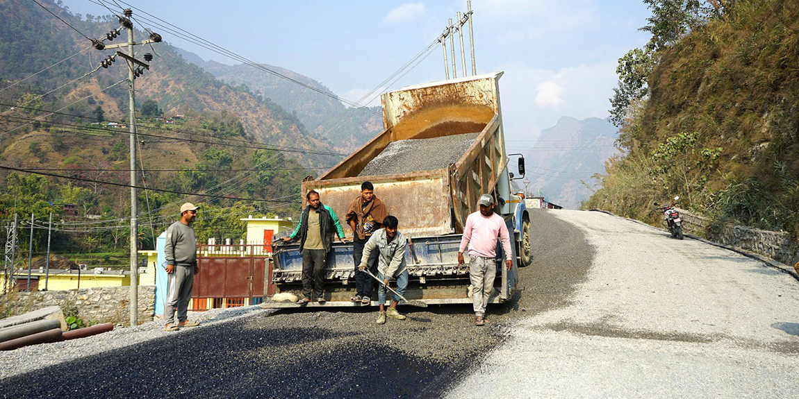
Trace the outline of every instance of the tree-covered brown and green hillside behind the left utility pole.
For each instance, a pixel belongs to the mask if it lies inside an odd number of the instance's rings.
[[[89,37],[119,26],[116,18],[81,18],[53,2],[43,4]],[[73,178],[0,172],[0,219],[34,213],[42,221],[52,212],[54,221],[74,226],[55,231],[54,251],[120,250],[127,245],[129,189],[97,181],[128,183],[129,135],[127,128],[96,121],[127,124],[125,64],[98,68],[113,50],[90,48],[81,34],[35,2],[0,0],[0,19],[0,165]],[[137,31],[137,36],[146,34]],[[137,166],[145,171],[139,184],[153,189],[139,190],[137,197],[142,247],[153,246],[154,236],[174,222],[177,207],[187,200],[202,203],[195,224],[201,240],[242,236],[240,215],[293,215],[299,182],[312,173],[308,168],[340,160],[305,151],[332,152],[332,146],[306,132],[280,105],[217,80],[168,43],[153,47],[151,69],[136,80],[137,114],[157,101],[156,110],[165,117],[184,117],[174,123],[137,118],[142,135]],[[153,53],[149,46],[137,51]],[[26,77],[31,78],[22,81]],[[57,109],[53,115],[43,111]],[[261,143],[292,151],[256,150],[266,147]],[[67,214],[62,204],[77,206],[77,215]],[[34,246],[44,245],[46,231],[38,230]]]

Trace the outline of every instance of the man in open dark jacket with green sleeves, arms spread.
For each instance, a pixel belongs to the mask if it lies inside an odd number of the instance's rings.
[[[313,190],[305,195],[308,206],[300,215],[300,223],[294,232],[283,238],[288,243],[300,238],[300,253],[302,254],[302,294],[297,305],[307,305],[311,302],[311,288],[316,302],[324,302],[324,265],[327,263],[328,252],[333,245],[333,232],[339,236],[342,243],[344,231],[332,207],[323,205],[319,193]]]

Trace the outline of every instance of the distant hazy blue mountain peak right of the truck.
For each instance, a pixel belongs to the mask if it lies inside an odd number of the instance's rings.
[[[591,176],[618,154],[616,136],[617,129],[607,120],[560,118],[525,152],[528,191],[562,207],[579,207],[592,192]]]

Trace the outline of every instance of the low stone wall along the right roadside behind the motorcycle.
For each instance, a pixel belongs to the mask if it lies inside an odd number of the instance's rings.
[[[710,232],[708,219],[678,209],[684,221],[683,230],[716,243],[739,247],[793,266],[799,261],[799,243],[785,231],[768,231],[752,227],[727,225],[719,232]]]

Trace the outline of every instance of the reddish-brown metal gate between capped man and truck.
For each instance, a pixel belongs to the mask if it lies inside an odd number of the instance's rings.
[[[260,245],[198,245],[194,276],[193,310],[208,307],[243,306],[244,299],[254,304],[264,297],[264,273],[272,247]],[[213,298],[213,306],[198,299]]]

